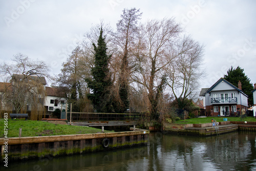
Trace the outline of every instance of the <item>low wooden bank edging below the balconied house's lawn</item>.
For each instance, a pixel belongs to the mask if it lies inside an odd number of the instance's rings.
[[[243,121],[223,121],[219,122],[218,131],[212,123],[203,124],[178,124],[164,123],[163,130],[172,134],[194,135],[194,136],[214,136],[230,133],[234,131],[254,131],[256,132],[256,122]]]

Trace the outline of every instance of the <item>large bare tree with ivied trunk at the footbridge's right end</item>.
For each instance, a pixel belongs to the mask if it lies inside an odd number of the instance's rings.
[[[157,119],[159,100],[166,86],[165,68],[175,56],[169,54],[181,28],[173,18],[150,20],[141,26],[134,55],[137,57],[137,72],[133,80],[142,84],[148,92],[150,116]]]

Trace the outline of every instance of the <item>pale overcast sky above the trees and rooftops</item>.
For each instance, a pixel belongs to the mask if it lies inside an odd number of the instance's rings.
[[[256,1],[206,0],[0,0],[0,62],[22,53],[44,60],[58,74],[61,63],[100,19],[113,28],[124,8],[143,12],[142,20],[175,17],[205,46],[208,88],[233,66],[256,83]]]

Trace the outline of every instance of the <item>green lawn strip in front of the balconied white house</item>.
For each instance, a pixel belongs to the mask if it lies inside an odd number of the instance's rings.
[[[217,122],[223,122],[223,118],[227,118],[228,121],[241,121],[240,117],[207,117],[207,118],[193,118],[193,119],[186,119],[184,122],[183,120],[178,120],[175,123],[209,123],[211,122],[211,119],[215,119]],[[242,121],[247,122],[256,122],[256,118],[254,117],[246,117]]]

